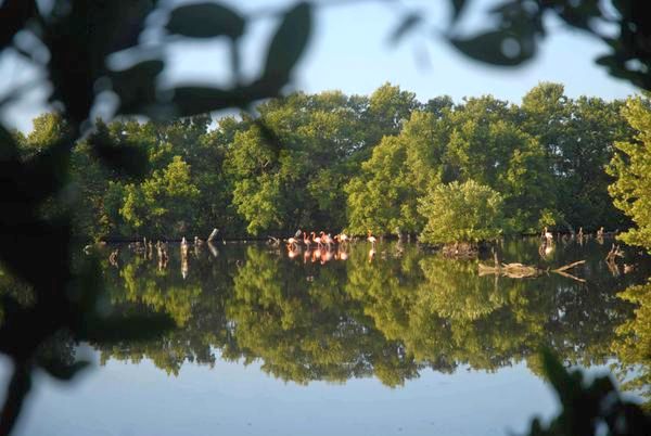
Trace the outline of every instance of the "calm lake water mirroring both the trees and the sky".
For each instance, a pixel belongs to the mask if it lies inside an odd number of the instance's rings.
[[[634,248],[624,273],[612,241],[507,241],[500,260],[535,279],[480,275],[477,261],[414,244],[354,244],[317,257],[263,244],[170,246],[166,268],[122,247],[104,262],[110,311],[168,313],[155,341],[71,349],[92,369],[74,384],[37,377],[17,435],[507,435],[556,397],[547,346],[590,374],[640,373],[618,355],[635,306],[618,296],[651,275]],[[105,258],[112,248],[105,251]],[[484,260],[492,262],[493,260]],[[8,375],[7,361],[2,377]],[[641,372],[648,371],[642,369]],[[639,392],[630,395],[639,395]]]

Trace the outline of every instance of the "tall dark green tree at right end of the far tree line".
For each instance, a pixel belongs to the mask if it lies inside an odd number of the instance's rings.
[[[569,230],[627,227],[608,196],[613,179],[604,171],[614,154],[613,143],[630,136],[621,105],[598,98],[572,100],[561,85],[548,82],[523,98],[524,130],[542,146],[556,179],[548,195],[556,195],[554,209],[562,211],[558,226]]]

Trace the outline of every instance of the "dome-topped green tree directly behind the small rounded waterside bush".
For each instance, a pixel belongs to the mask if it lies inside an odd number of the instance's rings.
[[[516,123],[514,107],[492,97],[469,99],[451,114],[444,181],[474,180],[503,195],[510,230],[536,229],[552,208],[553,178],[540,144]]]

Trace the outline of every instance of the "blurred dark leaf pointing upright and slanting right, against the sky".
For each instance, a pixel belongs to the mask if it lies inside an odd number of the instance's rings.
[[[312,8],[309,3],[299,2],[285,13],[280,27],[273,35],[264,77],[282,87],[290,77],[309,42],[312,26]]]

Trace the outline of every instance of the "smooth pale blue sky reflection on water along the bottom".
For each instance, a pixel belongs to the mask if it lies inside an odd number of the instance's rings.
[[[285,384],[257,363],[222,361],[184,364],[168,377],[149,360],[112,360],[72,387],[42,374],[37,383],[17,436],[507,435],[556,410],[524,363],[496,373],[425,370],[398,388],[374,379]]]

